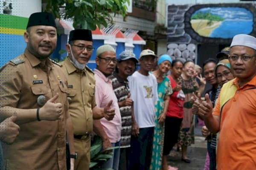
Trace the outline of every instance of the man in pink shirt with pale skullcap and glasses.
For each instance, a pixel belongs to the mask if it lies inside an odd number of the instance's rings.
[[[103,150],[108,147],[120,146],[122,121],[118,106],[118,100],[113,91],[112,82],[108,76],[116,68],[116,52],[110,45],[102,45],[96,51],[96,69],[94,70],[95,99],[100,108],[108,105],[115,109],[115,116],[112,121],[105,118],[93,120],[93,130],[103,141]],[[113,157],[106,161],[102,168],[118,170],[120,148],[114,149]]]

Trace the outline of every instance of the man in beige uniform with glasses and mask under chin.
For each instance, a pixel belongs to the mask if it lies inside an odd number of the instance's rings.
[[[114,109],[110,105],[104,109],[96,106],[94,73],[86,66],[93,52],[92,33],[87,29],[70,31],[66,45],[68,57],[62,62],[62,71],[67,76],[69,113],[73,122],[74,144],[77,153],[75,170],[89,170],[90,134],[93,119],[103,116],[112,120]]]

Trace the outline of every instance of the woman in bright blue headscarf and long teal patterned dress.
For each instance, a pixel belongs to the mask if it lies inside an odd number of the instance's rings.
[[[167,54],[163,54],[158,59],[157,70],[152,72],[152,74],[157,78],[158,101],[155,105],[156,125],[154,128],[153,152],[150,170],[162,169],[163,139],[165,129],[164,122],[169,105],[169,96],[172,94],[171,83],[166,77],[166,73],[170,70],[171,63],[171,57]]]

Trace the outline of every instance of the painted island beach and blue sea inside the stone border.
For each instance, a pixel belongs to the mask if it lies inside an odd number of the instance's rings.
[[[200,36],[233,38],[253,31],[253,14],[241,7],[201,8],[191,15],[190,23]]]

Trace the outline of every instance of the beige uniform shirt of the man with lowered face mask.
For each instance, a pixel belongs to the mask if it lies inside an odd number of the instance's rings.
[[[93,131],[92,109],[95,102],[95,79],[90,68],[77,69],[68,58],[62,64],[67,77],[68,97],[71,98],[69,113],[73,122],[74,135],[87,135]]]

